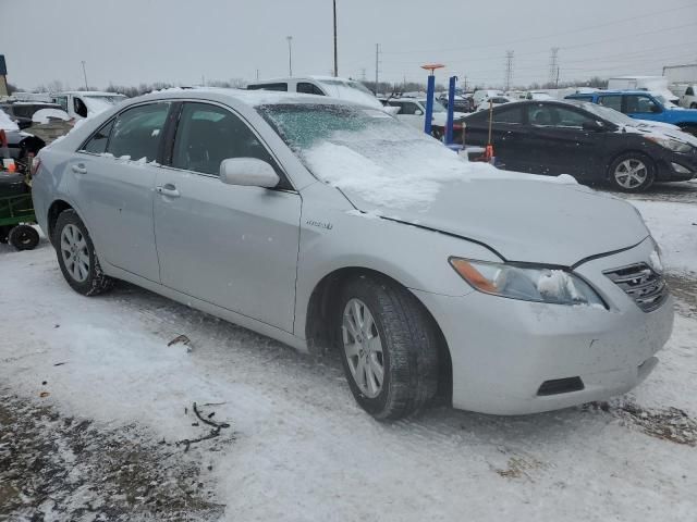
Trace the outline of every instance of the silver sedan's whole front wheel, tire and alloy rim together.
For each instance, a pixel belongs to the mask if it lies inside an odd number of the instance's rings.
[[[436,395],[439,337],[413,294],[360,276],[343,287],[338,312],[341,359],[363,409],[378,420],[395,420]]]

